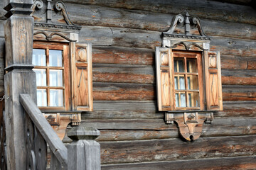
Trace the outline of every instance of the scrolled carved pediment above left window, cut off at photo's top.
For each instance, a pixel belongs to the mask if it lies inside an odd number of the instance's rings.
[[[61,1],[34,0],[31,16],[34,18],[34,40],[71,42],[78,40],[81,26],[75,25],[65,4]]]

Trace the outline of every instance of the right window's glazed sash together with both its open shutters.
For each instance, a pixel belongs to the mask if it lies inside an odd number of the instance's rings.
[[[159,111],[222,110],[217,53],[156,47],[156,79]]]

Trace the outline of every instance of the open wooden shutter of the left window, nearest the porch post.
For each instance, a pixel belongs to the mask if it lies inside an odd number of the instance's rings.
[[[92,111],[92,45],[72,42],[73,110]]]

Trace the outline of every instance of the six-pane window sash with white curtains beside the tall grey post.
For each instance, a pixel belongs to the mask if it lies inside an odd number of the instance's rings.
[[[68,45],[34,43],[32,63],[36,72],[38,107],[46,110],[68,109]]]

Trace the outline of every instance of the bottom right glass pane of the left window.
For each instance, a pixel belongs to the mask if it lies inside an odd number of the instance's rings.
[[[63,90],[50,89],[50,106],[63,106]]]

